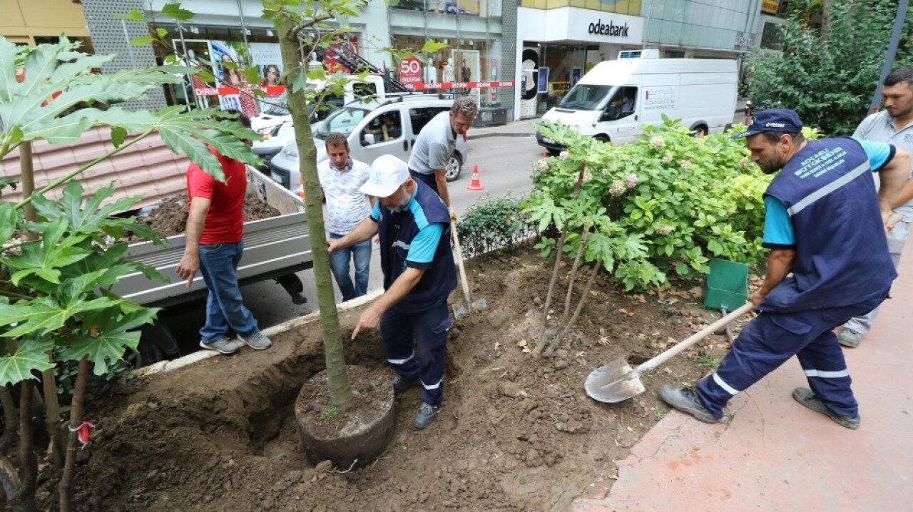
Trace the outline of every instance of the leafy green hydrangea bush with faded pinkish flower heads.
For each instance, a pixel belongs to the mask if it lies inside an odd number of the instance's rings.
[[[664,286],[668,277],[708,272],[712,257],[756,264],[763,256],[761,194],[770,183],[732,133],[695,138],[677,120],[645,126],[635,143],[614,146],[582,137],[561,124],[539,131],[567,147],[533,164],[534,189],[525,212],[542,234],[567,221],[563,254],[603,266],[628,290]],[[580,189],[575,195],[575,183]]]

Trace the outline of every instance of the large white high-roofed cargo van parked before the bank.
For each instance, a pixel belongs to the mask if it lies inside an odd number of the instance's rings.
[[[648,55],[648,54],[647,54]],[[621,58],[597,64],[542,116],[601,141],[635,141],[644,124],[662,115],[697,134],[723,131],[738,96],[736,61],[705,58]],[[552,154],[563,146],[536,135]]]

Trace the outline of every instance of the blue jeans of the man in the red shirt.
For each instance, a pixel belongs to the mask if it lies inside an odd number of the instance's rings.
[[[206,323],[200,329],[204,343],[226,337],[228,328],[239,336],[257,333],[257,320],[241,302],[237,286],[237,264],[244,253],[244,242],[200,246],[200,273],[209,296],[206,298]]]

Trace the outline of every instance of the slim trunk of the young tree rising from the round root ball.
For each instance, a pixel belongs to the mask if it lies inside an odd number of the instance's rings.
[[[294,34],[295,25],[285,19],[278,26],[279,49],[282,53],[282,66],[289,74],[296,70],[302,73],[299,52],[299,38]],[[305,57],[307,58],[307,56]],[[327,381],[330,386],[330,398],[333,405],[341,410],[352,406],[352,389],[346,373],[345,359],[342,353],[342,333],[339,313],[336,309],[336,297],[333,295],[333,283],[330,273],[330,253],[327,252],[327,238],[323,224],[323,205],[320,203],[320,180],[317,174],[317,148],[314,146],[310,131],[307,104],[299,92],[292,92],[291,80],[285,80],[289,97],[289,111],[295,126],[295,141],[298,145],[299,172],[304,181],[304,204],[308,216],[311,256],[314,259],[314,280],[317,284],[317,304],[320,308],[320,323],[323,326],[323,348],[327,364]]]

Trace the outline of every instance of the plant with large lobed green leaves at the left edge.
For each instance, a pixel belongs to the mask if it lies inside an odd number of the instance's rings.
[[[114,185],[86,195],[79,174],[113,154],[158,133],[174,152],[182,152],[216,179],[221,166],[208,146],[240,162],[257,164],[243,140],[256,139],[215,110],[128,111],[117,104],[142,98],[162,84],[179,82],[185,68],[132,69],[101,75],[93,72],[111,56],[89,56],[79,44],[62,38],[56,45],[16,47],[0,37],[0,158],[19,151],[21,173],[6,176],[3,188],[21,183],[25,198],[0,201],[0,336],[7,340],[0,355],[0,393],[19,388],[19,450],[11,464],[0,455],[0,481],[16,510],[34,510],[37,475],[30,421],[34,381],[42,372],[50,434],[59,432],[53,372],[58,361],[79,361],[69,413],[69,438],[60,482],[60,509],[69,509],[69,493],[82,423],[85,383],[90,367],[102,374],[126,350],[136,348],[134,329],[154,319],[155,310],[111,295],[107,288],[128,272],[156,273],[126,259],[127,246],[113,242],[125,229],[154,238],[132,218],[111,214],[129,210],[140,197],[111,201]],[[78,141],[93,127],[108,127],[112,146],[41,190],[34,190],[31,142]],[[55,191],[66,183],[62,191]],[[51,199],[55,191],[57,200]],[[59,192],[59,193],[58,193]],[[2,397],[0,397],[2,398]],[[10,401],[3,400],[5,405]],[[5,411],[12,414],[12,411]],[[58,449],[57,444],[52,444]]]

